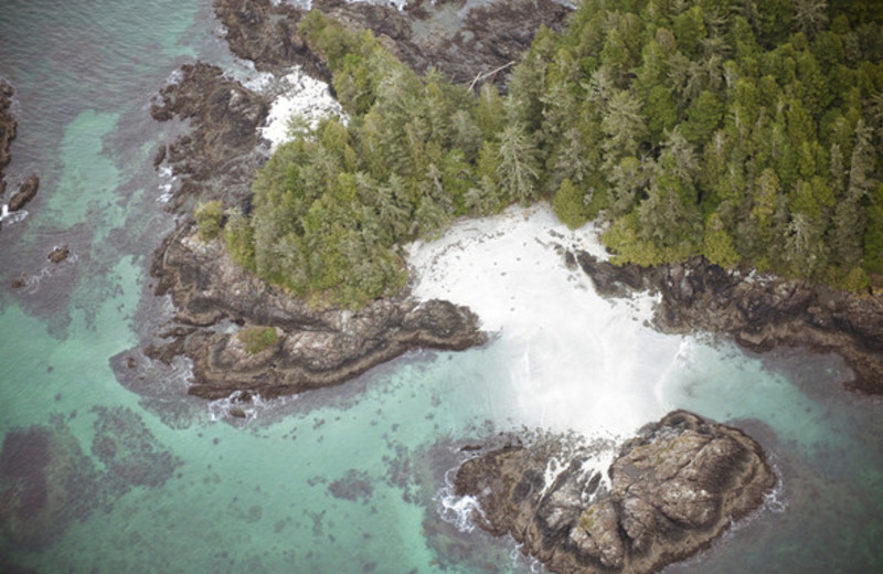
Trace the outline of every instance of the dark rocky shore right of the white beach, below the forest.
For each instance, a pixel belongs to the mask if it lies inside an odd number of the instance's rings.
[[[666,332],[731,334],[753,351],[808,347],[843,357],[853,390],[883,393],[883,297],[857,295],[805,280],[727,270],[702,257],[653,268],[576,259],[604,296],[661,294],[656,326]]]

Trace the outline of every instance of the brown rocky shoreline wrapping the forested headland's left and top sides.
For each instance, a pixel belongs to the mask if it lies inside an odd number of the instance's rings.
[[[340,0],[312,4],[350,25],[371,28],[415,68],[434,65],[461,82],[503,66],[530,45],[541,24],[557,28],[568,12],[549,0],[536,10],[525,0],[472,9],[465,29],[445,30],[438,21],[464,2],[418,3],[406,12]],[[330,79],[321,57],[297,35],[304,11],[268,0],[216,0],[214,8],[233,53],[257,70],[281,76],[299,65]],[[311,309],[237,269],[221,240],[199,240],[190,216],[196,201],[221,200],[251,211],[251,183],[267,158],[258,127],[267,121],[269,98],[201,62],[184,65],[177,76],[162,87],[150,113],[158,121],[190,125],[155,159],[179,182],[168,209],[185,216],[156,251],[151,267],[159,279],[156,293],[169,294],[178,312],[145,353],[167,364],[188,357],[193,365],[190,394],[209,400],[294,394],[340,384],[413,349],[462,350],[487,341],[470,310],[417,301],[406,291],[359,311]],[[486,79],[502,84],[504,76]],[[235,334],[248,328],[274,329],[273,344],[248,352]]]

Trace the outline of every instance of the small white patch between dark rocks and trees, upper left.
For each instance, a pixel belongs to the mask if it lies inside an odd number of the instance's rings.
[[[287,86],[269,109],[267,125],[258,128],[264,139],[269,140],[270,150],[285,144],[288,137],[288,120],[299,115],[306,118],[310,127],[316,127],[322,117],[336,115],[343,117],[343,108],[331,96],[328,84],[315,79],[300,70],[281,78]]]

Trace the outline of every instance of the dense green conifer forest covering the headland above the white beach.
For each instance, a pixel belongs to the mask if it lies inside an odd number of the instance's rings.
[[[404,285],[405,243],[539,199],[572,227],[598,217],[617,262],[883,285],[883,3],[762,4],[585,0],[504,95],[312,12],[301,34],[347,117],[292,121],[249,213],[200,205],[201,233],[226,219],[237,264],[355,306]]]

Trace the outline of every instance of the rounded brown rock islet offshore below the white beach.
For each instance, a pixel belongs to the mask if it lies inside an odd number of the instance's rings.
[[[657,572],[708,548],[776,483],[752,438],[683,411],[627,442],[608,477],[583,471],[589,455],[577,454],[546,483],[560,455],[549,437],[509,445],[467,460],[454,480],[455,495],[478,501],[480,528],[511,534],[558,573]]]

